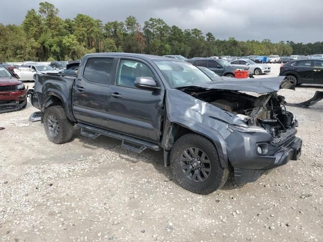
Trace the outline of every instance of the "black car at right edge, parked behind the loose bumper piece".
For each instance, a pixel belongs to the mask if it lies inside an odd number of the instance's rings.
[[[297,59],[281,66],[280,76],[296,85],[323,84],[323,59]]]

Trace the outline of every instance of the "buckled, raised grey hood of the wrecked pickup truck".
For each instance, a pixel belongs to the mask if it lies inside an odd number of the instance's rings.
[[[196,84],[195,87],[207,89],[221,89],[231,91],[255,92],[258,94],[277,92],[280,88],[294,89],[293,85],[285,80],[285,77],[268,78],[212,78],[212,82]]]

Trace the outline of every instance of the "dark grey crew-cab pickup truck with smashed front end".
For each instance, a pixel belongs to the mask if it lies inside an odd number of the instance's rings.
[[[163,150],[182,187],[209,194],[232,167],[235,180],[248,183],[298,159],[298,123],[277,94],[288,86],[284,77],[212,81],[166,57],[93,53],[82,58],[76,78],[36,75],[31,102],[51,142],[70,141],[77,126],[84,136],[117,138],[137,153]]]

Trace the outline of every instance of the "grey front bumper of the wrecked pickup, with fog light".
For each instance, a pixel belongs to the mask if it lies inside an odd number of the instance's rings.
[[[234,167],[238,183],[256,181],[266,170],[297,160],[301,155],[302,140],[290,129],[281,138],[272,139],[265,133],[242,133],[234,131],[227,139],[227,154]],[[261,146],[265,153],[258,154]]]

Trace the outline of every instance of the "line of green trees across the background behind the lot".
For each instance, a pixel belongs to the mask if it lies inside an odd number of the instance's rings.
[[[238,41],[217,39],[212,33],[169,26],[160,18],[140,25],[129,16],[125,21],[103,24],[84,14],[61,19],[59,10],[48,2],[38,11],[27,11],[21,25],[0,23],[0,62],[54,61],[80,59],[92,52],[131,52],[155,55],[181,54],[185,57],[211,55],[290,55],[323,53],[323,42]]]

